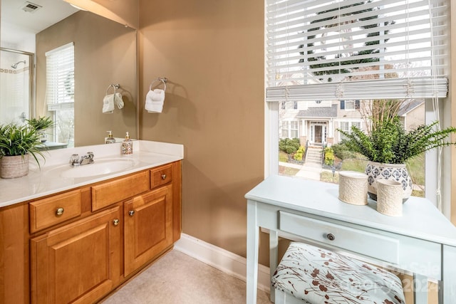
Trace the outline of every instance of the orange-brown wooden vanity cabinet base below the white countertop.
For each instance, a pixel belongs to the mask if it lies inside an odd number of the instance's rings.
[[[0,208],[0,303],[97,302],[180,239],[180,200],[177,161]]]

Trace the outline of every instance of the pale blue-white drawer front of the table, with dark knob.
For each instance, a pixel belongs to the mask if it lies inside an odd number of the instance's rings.
[[[306,216],[279,211],[279,229],[389,263],[399,262],[399,240]],[[380,248],[380,249],[379,249]]]

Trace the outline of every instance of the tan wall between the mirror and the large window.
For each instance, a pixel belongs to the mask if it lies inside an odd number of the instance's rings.
[[[246,194],[264,176],[264,1],[140,1],[140,138],[185,145],[182,230],[245,256]],[[160,86],[161,88],[161,86]]]

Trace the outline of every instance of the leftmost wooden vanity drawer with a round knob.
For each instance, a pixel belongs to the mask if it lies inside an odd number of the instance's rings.
[[[81,215],[81,190],[57,194],[28,204],[30,232],[59,224]]]

